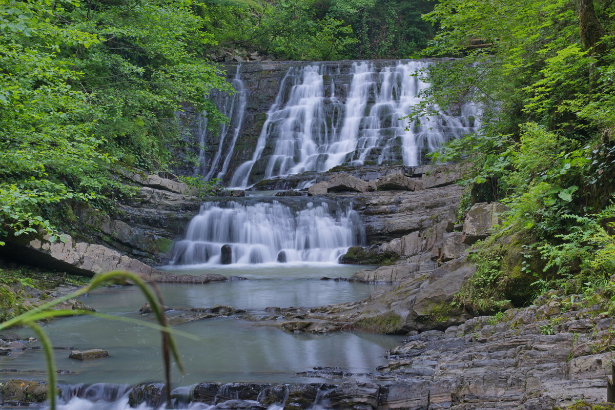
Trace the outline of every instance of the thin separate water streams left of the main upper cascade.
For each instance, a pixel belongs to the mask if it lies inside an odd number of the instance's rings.
[[[235,90],[231,95],[225,95],[223,98],[218,95],[217,99],[220,111],[224,116],[229,118],[229,122],[223,122],[218,127],[216,132],[219,133],[218,149],[213,157],[208,157],[207,152],[207,137],[212,130],[208,129],[208,118],[204,114],[199,114],[197,118],[199,138],[199,166],[195,168],[194,173],[205,175],[205,179],[224,178],[228,171],[231,157],[237,143],[237,138],[244,122],[245,106],[247,95],[245,91],[244,81],[241,79],[241,65],[237,65],[235,76],[231,81],[232,87]],[[220,101],[221,100],[221,101]]]

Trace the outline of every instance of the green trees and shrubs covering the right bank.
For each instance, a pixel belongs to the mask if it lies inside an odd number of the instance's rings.
[[[606,207],[615,193],[613,38],[588,47],[576,10],[567,0],[442,0],[426,15],[440,25],[426,53],[459,59],[418,73],[432,86],[410,119],[464,100],[480,106],[478,135],[452,141],[433,158],[465,162],[464,204],[506,203],[502,235],[525,236],[523,257],[507,269],[495,240],[478,245],[477,275],[459,295],[478,310],[514,299],[502,286],[506,278],[542,277],[533,280],[541,293],[577,277],[604,278],[615,267]],[[613,4],[595,0],[595,12],[612,32]],[[472,38],[493,44],[470,49]]]

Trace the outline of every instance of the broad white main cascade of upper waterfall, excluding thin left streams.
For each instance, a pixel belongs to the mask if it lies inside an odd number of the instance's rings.
[[[269,179],[336,165],[420,165],[424,154],[474,131],[474,106],[408,124],[404,117],[421,101],[428,84],[413,73],[429,61],[311,63],[288,68],[266,114],[252,159],[230,178],[246,187],[258,167]]]

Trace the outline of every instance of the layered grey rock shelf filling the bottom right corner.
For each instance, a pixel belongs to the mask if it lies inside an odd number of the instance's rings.
[[[503,317],[408,337],[379,371],[408,377],[395,388],[411,392],[403,408],[547,410],[603,401],[613,358],[603,335],[615,322],[576,303],[560,313],[569,300],[547,296]],[[383,408],[399,408],[387,389]]]

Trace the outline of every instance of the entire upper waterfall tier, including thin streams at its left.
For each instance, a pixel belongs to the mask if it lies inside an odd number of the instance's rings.
[[[234,71],[236,93],[219,98],[231,118],[197,137],[199,173],[229,186],[336,165],[420,165],[443,142],[474,131],[470,104],[409,124],[427,84],[413,76],[429,61],[253,63]]]

